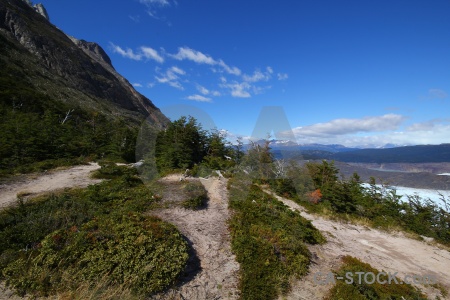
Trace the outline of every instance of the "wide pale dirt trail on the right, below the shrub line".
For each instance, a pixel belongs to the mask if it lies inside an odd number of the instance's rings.
[[[269,191],[266,191],[271,193]],[[379,271],[406,275],[434,275],[450,291],[450,252],[426,242],[405,237],[402,233],[390,234],[364,226],[345,224],[311,215],[297,203],[271,193],[278,200],[299,211],[327,238],[324,245],[309,247],[313,263],[307,276],[296,282],[289,295],[283,299],[322,299],[332,285],[315,283],[314,274],[328,274],[338,269],[340,258],[350,255],[370,264]],[[355,275],[356,276],[356,275]],[[355,277],[357,278],[357,277]],[[417,285],[429,299],[444,298],[440,291],[430,286]]]

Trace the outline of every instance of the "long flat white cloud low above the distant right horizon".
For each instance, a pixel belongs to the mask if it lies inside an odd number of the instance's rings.
[[[294,128],[298,136],[324,137],[360,132],[383,132],[396,130],[406,117],[396,114],[387,114],[377,117],[361,119],[335,119],[327,123]]]

